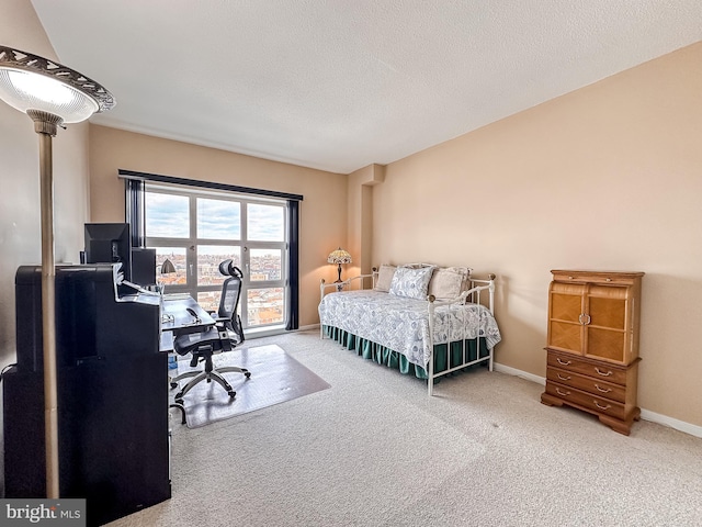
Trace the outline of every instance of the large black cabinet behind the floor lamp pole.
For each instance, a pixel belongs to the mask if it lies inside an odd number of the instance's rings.
[[[2,383],[5,497],[44,497],[37,268],[20,268],[15,291],[18,365]],[[59,493],[87,498],[89,525],[171,495],[159,307],[115,291],[112,266],[57,268]]]

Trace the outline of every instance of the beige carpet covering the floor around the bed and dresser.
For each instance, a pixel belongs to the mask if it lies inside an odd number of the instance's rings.
[[[111,527],[702,525],[699,437],[622,436],[485,368],[429,397],[318,330],[259,343],[331,388],[194,429],[173,415],[173,497]]]

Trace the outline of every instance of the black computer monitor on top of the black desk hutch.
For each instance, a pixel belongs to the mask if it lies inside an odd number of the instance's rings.
[[[87,223],[86,264],[122,264],[125,280],[132,278],[128,223]]]

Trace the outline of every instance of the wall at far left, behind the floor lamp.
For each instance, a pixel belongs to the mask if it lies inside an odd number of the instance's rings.
[[[0,44],[60,59],[29,1],[3,0],[2,11]],[[59,128],[53,142],[56,261],[77,261],[83,245],[88,126]],[[42,255],[38,135],[30,117],[1,101],[0,189],[0,366],[4,366],[15,357],[14,273],[21,265],[41,264]]]

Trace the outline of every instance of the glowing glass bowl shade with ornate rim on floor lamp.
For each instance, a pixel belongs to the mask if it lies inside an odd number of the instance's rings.
[[[0,99],[12,108],[46,112],[79,123],[115,105],[98,82],[31,53],[0,46]]]

